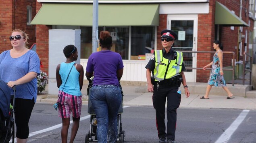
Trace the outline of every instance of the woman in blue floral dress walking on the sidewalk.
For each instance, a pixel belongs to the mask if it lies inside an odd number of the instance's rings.
[[[209,99],[209,93],[212,88],[214,87],[223,87],[223,89],[227,92],[228,96],[226,99],[232,99],[233,94],[229,91],[226,86],[226,82],[223,77],[223,46],[219,40],[213,42],[213,48],[216,50],[213,56],[213,61],[203,67],[203,70],[210,65],[212,65],[212,73],[210,74],[210,78],[208,80],[208,85],[206,87],[206,93],[200,99]]]

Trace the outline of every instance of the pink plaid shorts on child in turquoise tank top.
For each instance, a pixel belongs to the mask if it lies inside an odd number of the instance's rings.
[[[61,91],[59,91],[60,95]],[[58,116],[61,118],[70,118],[70,112],[75,118],[80,117],[82,108],[82,96],[74,96],[62,92],[58,100]]]

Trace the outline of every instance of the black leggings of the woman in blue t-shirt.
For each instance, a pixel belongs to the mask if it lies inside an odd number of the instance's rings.
[[[13,103],[13,99],[11,99]],[[29,137],[29,119],[35,105],[34,98],[31,99],[15,99],[14,116],[16,124],[16,137],[19,139],[27,139]]]

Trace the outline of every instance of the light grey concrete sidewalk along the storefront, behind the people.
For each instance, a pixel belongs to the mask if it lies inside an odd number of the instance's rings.
[[[196,83],[194,83],[196,85]],[[184,95],[184,89],[182,90],[181,95],[181,105],[180,107],[185,108],[221,108],[221,109],[250,109],[256,110],[256,98],[255,97],[242,97],[235,96],[234,99],[225,99],[227,96],[224,95],[209,95],[210,99],[200,99],[204,96],[202,93],[206,90],[206,85],[202,84],[202,88],[197,93],[191,93],[190,97],[186,98]],[[230,85],[229,85],[230,86]],[[87,83],[83,85],[81,90],[83,95],[83,105],[87,105],[88,96],[87,96]],[[153,106],[152,104],[152,93],[147,92],[146,86],[129,86],[122,85],[124,97],[123,105],[124,106]],[[191,87],[193,88],[193,87]],[[213,90],[213,89],[212,89]],[[223,90],[223,89],[221,89]],[[189,91],[195,91],[194,89],[189,89]],[[223,90],[224,91],[224,90]],[[57,100],[57,95],[48,95],[48,87],[46,91],[37,96],[37,103],[55,103]]]

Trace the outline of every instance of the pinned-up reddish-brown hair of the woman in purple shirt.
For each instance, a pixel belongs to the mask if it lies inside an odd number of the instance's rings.
[[[100,45],[102,48],[110,49],[112,46],[112,37],[108,31],[100,31]]]

